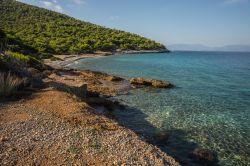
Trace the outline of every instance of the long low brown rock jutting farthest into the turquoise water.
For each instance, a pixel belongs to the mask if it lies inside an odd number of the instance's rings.
[[[136,86],[152,86],[155,88],[172,88],[173,84],[161,80],[145,79],[141,77],[131,78],[130,83]]]

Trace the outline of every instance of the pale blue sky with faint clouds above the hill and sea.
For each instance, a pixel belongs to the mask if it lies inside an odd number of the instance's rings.
[[[250,45],[250,0],[19,0],[165,45]]]

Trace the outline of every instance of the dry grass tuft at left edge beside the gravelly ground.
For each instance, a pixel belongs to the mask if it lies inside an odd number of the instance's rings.
[[[13,74],[0,73],[0,97],[7,97],[14,94],[23,80]]]

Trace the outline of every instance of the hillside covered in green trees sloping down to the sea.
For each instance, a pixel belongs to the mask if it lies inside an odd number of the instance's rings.
[[[14,0],[0,0],[0,29],[9,49],[44,57],[94,51],[160,50],[165,46],[136,34],[105,28]]]

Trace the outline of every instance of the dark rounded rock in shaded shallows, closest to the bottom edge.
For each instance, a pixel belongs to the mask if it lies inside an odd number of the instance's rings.
[[[202,165],[214,165],[217,157],[214,152],[208,149],[196,148],[190,153],[190,157]]]

